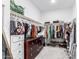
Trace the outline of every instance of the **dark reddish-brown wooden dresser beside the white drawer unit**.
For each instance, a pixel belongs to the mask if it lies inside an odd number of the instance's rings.
[[[43,48],[43,37],[28,39],[24,41],[24,59],[35,59]]]

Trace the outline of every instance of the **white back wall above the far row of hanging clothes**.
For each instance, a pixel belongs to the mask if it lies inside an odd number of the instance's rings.
[[[54,20],[62,20],[65,22],[69,22],[72,20],[73,8],[60,9],[54,11],[48,11],[41,14],[41,20],[45,21],[54,21]]]

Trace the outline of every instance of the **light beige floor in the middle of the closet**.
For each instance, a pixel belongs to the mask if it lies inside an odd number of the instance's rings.
[[[35,59],[69,59],[66,49],[59,47],[44,47]]]

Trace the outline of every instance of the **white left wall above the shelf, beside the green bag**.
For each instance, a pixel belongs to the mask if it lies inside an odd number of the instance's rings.
[[[36,21],[39,21],[40,11],[29,0],[14,0],[17,5],[24,7],[24,14]]]

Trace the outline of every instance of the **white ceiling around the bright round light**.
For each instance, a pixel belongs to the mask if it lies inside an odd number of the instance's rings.
[[[31,2],[36,5],[40,11],[69,8],[75,4],[75,0],[56,0],[56,3],[51,3],[51,0],[31,0]]]

